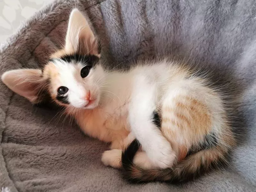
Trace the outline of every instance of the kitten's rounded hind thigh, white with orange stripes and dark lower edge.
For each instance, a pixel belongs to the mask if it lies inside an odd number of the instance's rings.
[[[163,99],[161,131],[172,143],[178,161],[185,159],[189,151],[196,152],[204,143],[216,142],[213,113],[204,101],[207,94],[197,92],[186,85],[171,87]]]

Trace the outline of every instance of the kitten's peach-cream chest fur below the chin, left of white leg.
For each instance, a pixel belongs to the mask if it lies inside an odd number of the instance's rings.
[[[122,79],[103,90],[104,99],[98,108],[83,111],[76,117],[80,128],[89,136],[111,142],[122,140],[129,134],[131,82],[125,81],[125,75]]]

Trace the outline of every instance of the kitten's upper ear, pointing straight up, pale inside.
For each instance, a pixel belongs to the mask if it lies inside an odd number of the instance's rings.
[[[68,53],[93,54],[100,57],[100,46],[84,15],[74,9],[69,17],[65,50]]]

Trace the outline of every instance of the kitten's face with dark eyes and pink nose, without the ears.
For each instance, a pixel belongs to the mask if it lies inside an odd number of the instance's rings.
[[[62,106],[93,109],[100,101],[104,70],[95,55],[63,55],[52,59],[44,68],[49,79],[48,91]]]

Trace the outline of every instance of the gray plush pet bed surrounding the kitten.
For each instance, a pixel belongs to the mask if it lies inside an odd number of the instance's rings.
[[[182,55],[232,77],[244,117],[232,164],[182,185],[129,184],[105,167],[108,145],[56,110],[37,108],[0,83],[0,191],[256,191],[256,3],[254,0],[59,0],[36,13],[1,48],[6,70],[43,66],[63,45],[72,7],[86,12],[106,65]],[[243,135],[243,136],[242,136]]]

